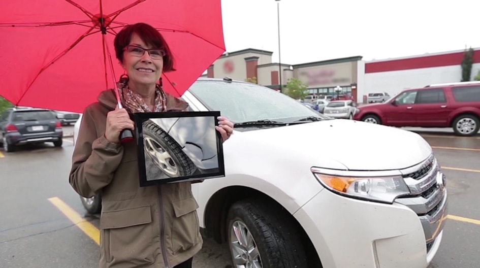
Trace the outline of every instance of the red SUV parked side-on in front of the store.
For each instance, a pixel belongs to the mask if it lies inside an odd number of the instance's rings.
[[[359,109],[355,120],[397,127],[452,127],[459,136],[473,136],[480,128],[480,81],[408,89],[385,103]]]

